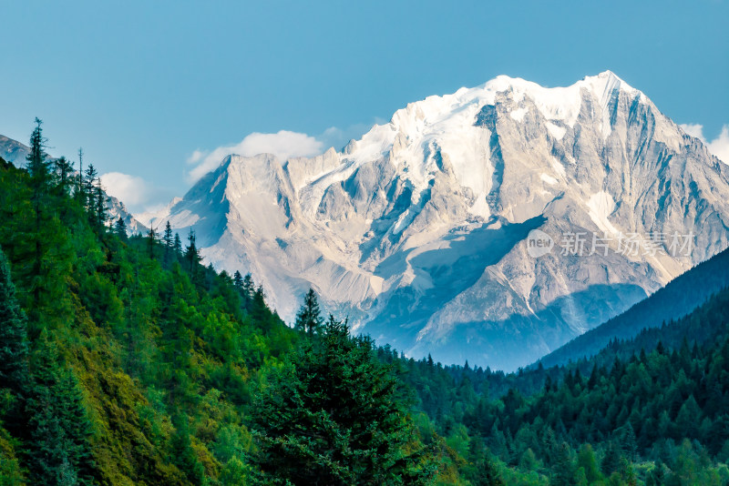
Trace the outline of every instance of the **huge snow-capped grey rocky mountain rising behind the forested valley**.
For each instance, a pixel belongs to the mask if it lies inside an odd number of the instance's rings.
[[[729,167],[609,71],[498,76],[342,152],[226,157],[168,219],[284,319],[312,286],[380,343],[513,370],[725,248]]]

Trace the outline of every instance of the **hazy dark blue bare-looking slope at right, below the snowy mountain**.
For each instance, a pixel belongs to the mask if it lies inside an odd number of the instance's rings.
[[[642,329],[660,327],[664,322],[689,314],[726,287],[729,287],[729,249],[688,270],[651,297],[572,339],[539,362],[550,367],[590,357],[608,346],[612,339],[631,339]]]

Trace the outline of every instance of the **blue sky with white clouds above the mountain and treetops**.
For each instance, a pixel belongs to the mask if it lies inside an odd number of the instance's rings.
[[[53,155],[84,147],[139,210],[182,195],[216,148],[340,148],[500,74],[611,69],[708,140],[729,124],[728,1],[559,5],[0,0],[0,134],[26,142],[41,117]]]

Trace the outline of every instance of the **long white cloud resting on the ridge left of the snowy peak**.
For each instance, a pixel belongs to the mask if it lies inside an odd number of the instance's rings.
[[[231,154],[252,157],[258,154],[273,154],[280,160],[291,157],[313,157],[324,151],[324,143],[304,133],[281,130],[278,133],[252,133],[241,143],[228,147],[218,147],[211,151],[195,150],[188,157],[188,164],[195,165],[188,178],[198,180],[210,170],[218,167],[222,159]]]

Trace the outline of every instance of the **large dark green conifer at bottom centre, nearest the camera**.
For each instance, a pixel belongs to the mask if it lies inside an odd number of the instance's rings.
[[[265,483],[421,484],[433,472],[414,442],[389,368],[366,337],[333,317],[272,375],[256,401],[257,464]]]

